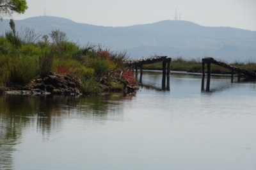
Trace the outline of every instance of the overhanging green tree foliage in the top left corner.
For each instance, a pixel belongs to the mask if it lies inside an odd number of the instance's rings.
[[[3,15],[12,16],[13,13],[24,13],[27,9],[26,0],[0,0],[0,20]]]

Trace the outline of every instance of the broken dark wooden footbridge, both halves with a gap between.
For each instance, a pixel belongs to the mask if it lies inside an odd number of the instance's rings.
[[[125,64],[128,66],[132,66],[132,72],[134,69],[136,70],[136,77],[138,76],[138,68],[140,68],[140,83],[142,83],[142,75],[143,75],[143,65],[149,65],[152,63],[163,62],[163,78],[162,78],[162,89],[170,89],[170,67],[171,67],[172,58],[168,58],[167,56],[157,56],[152,58],[141,58],[136,60],[127,60]],[[256,79],[256,72],[251,72],[249,70],[244,70],[241,68],[237,68],[235,66],[228,65],[227,63],[223,63],[221,61],[216,61],[213,58],[203,58],[202,59],[202,86],[201,89],[204,90],[204,78],[205,78],[205,63],[207,64],[207,86],[206,91],[210,91],[210,80],[211,80],[211,63],[214,65],[219,65],[224,68],[228,68],[232,70],[231,74],[231,82],[233,82],[234,72],[237,72],[238,81],[240,81],[241,74],[245,75],[248,78]],[[167,64],[167,67],[166,67]],[[167,86],[166,86],[167,79]]]

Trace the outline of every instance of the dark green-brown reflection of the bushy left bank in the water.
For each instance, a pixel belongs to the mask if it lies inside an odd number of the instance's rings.
[[[0,169],[12,169],[12,153],[22,140],[22,132],[36,125],[43,140],[60,129],[65,119],[90,116],[103,120],[108,114],[122,114],[121,100],[132,100],[136,94],[113,93],[97,97],[0,96]],[[56,133],[55,133],[56,134]]]

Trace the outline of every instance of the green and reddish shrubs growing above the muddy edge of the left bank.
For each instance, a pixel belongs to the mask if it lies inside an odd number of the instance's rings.
[[[10,28],[0,36],[0,89],[12,84],[25,84],[50,72],[78,77],[82,82],[82,93],[102,92],[102,77],[114,90],[124,88],[124,83],[111,81],[106,73],[113,70],[108,73],[115,74],[115,68],[125,71],[125,52],[89,43],[80,47],[77,43],[68,42],[66,34],[59,29],[43,36],[29,28],[17,32],[13,20],[10,20]],[[116,74],[120,77],[120,72]]]

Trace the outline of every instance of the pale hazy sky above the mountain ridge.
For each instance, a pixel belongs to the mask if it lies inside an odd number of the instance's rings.
[[[13,19],[44,15],[97,26],[132,26],[181,20],[201,26],[228,26],[256,31],[255,0],[27,0],[28,10]]]

